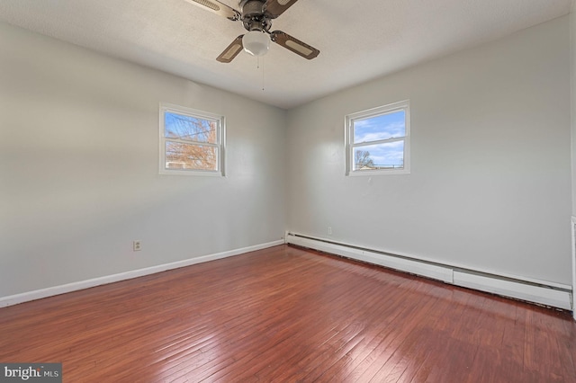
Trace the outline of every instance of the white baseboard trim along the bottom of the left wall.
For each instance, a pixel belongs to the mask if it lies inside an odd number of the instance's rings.
[[[15,294],[15,295],[7,296],[7,297],[1,297],[0,298],[0,307],[13,306],[13,305],[17,305],[17,304],[23,303],[23,302],[28,302],[31,300],[52,297],[55,295],[60,295],[60,294],[65,294],[67,292],[76,291],[79,289],[89,289],[89,288],[93,288],[95,286],[100,286],[103,284],[108,284],[108,283],[113,283],[113,282],[118,282],[118,281],[131,280],[133,278],[143,277],[145,275],[154,274],[157,272],[166,272],[166,270],[179,269],[181,267],[191,266],[191,265],[196,264],[196,263],[215,261],[217,259],[228,258],[230,256],[245,254],[248,252],[254,252],[257,250],[266,249],[268,247],[273,247],[273,246],[277,246],[277,245],[284,245],[284,243],[285,243],[285,240],[281,239],[281,240],[277,240],[277,241],[273,241],[273,242],[268,242],[266,244],[253,245],[253,246],[242,247],[240,249],[229,250],[227,252],[203,255],[203,256],[196,257],[196,258],[186,259],[184,261],[159,264],[157,266],[151,266],[151,267],[147,267],[145,269],[132,270],[130,272],[120,272],[118,274],[106,275],[104,277],[94,278],[91,280],[77,281],[77,282],[73,282],[73,283],[67,283],[65,285],[50,287],[47,289],[37,289],[37,290],[33,290],[33,291],[23,292],[21,294]]]

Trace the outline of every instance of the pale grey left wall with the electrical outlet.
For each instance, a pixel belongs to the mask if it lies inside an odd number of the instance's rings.
[[[0,36],[0,297],[284,236],[285,111],[7,24]],[[226,116],[227,178],[158,175],[159,102]]]

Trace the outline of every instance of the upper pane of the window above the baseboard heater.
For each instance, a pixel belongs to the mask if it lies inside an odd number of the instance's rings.
[[[406,111],[404,110],[354,120],[355,144],[404,136],[406,136]]]

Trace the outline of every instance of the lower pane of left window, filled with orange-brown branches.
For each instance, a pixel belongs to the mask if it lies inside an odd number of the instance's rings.
[[[218,147],[166,141],[166,169],[218,170]]]

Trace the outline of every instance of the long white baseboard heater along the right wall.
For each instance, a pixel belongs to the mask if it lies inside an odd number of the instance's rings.
[[[357,245],[342,244],[324,238],[286,233],[287,244],[299,245],[366,263],[378,264],[400,272],[444,281],[456,286],[477,289],[503,297],[572,310],[572,286],[547,281],[528,281],[522,277],[500,275],[429,262],[406,255],[390,254]]]

